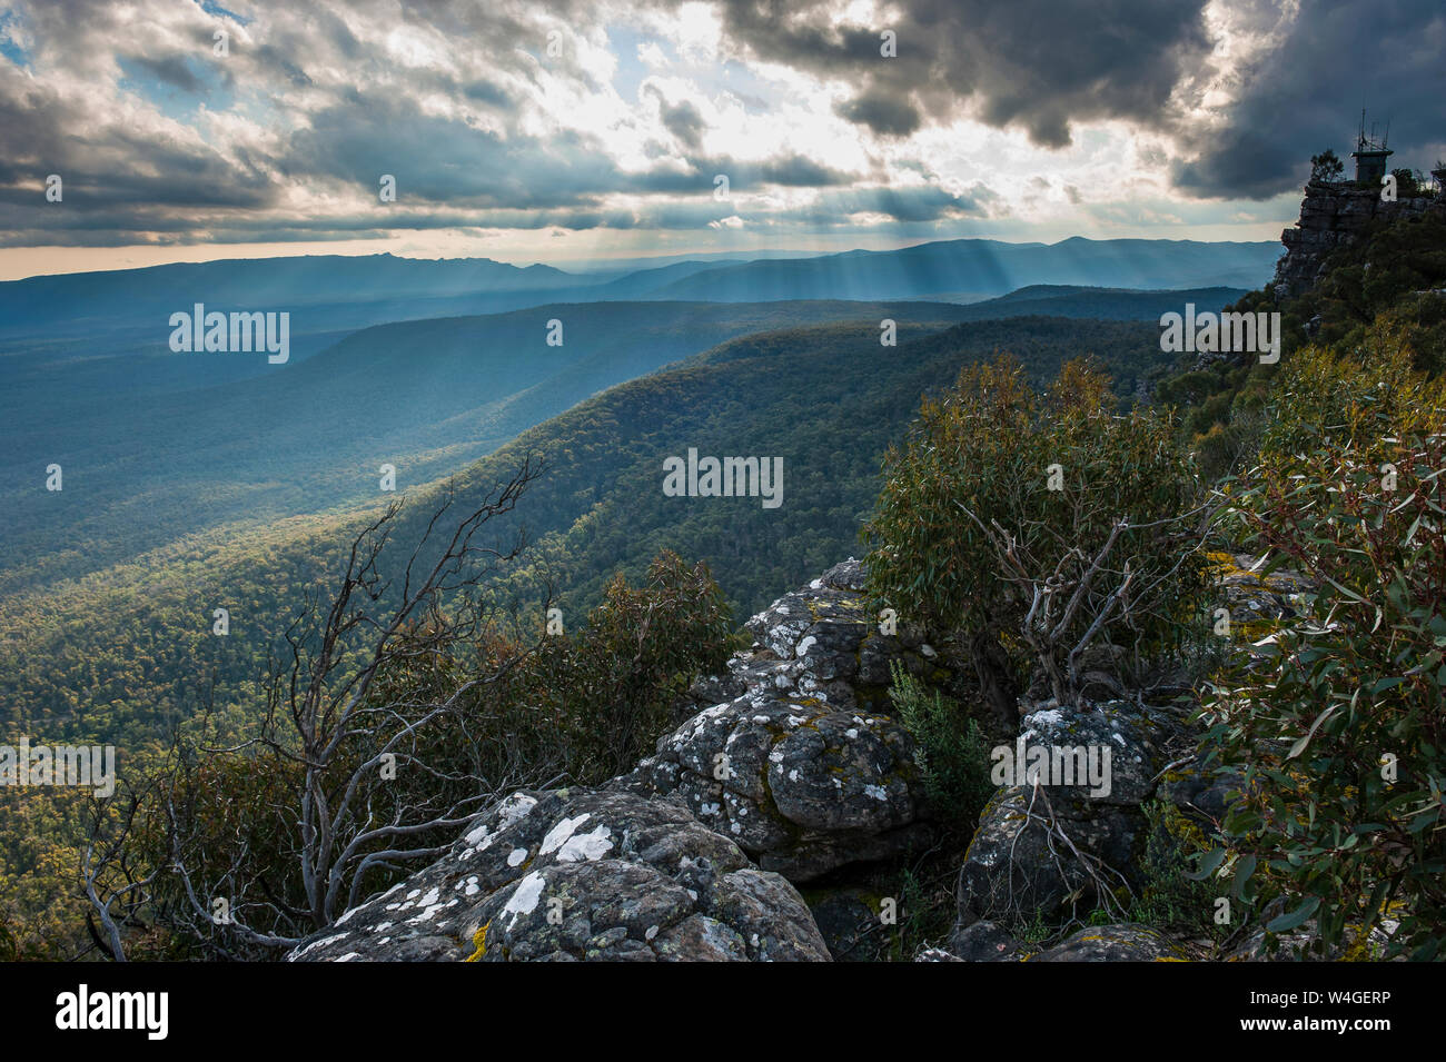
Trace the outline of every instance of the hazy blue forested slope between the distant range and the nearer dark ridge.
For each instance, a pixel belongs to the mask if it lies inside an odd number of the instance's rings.
[[[124,564],[184,536],[376,497],[380,465],[406,488],[447,475],[615,383],[730,337],[816,321],[898,316],[927,303],[577,303],[377,325],[243,380],[150,345],[12,351],[0,426],[0,592]],[[558,342],[549,344],[551,331]],[[171,376],[182,373],[179,379]],[[46,468],[62,490],[46,490]]]

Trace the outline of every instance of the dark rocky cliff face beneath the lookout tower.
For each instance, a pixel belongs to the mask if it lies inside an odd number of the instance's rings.
[[[1440,198],[1414,197],[1381,202],[1379,188],[1351,182],[1312,181],[1300,204],[1300,221],[1280,234],[1285,254],[1275,264],[1277,299],[1310,289],[1336,247],[1353,241],[1374,221],[1397,221],[1424,214]]]

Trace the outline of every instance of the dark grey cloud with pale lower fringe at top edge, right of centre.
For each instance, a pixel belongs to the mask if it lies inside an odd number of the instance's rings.
[[[1210,53],[1205,0],[902,0],[879,26],[836,27],[834,0],[722,0],[724,32],[753,55],[859,85],[844,117],[884,136],[947,121],[970,103],[1040,144],[1070,123],[1155,121]],[[881,33],[897,35],[897,58]]]

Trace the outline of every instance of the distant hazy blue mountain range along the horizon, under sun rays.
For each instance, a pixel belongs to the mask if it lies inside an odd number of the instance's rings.
[[[291,311],[292,335],[385,321],[499,314],[557,302],[668,299],[975,302],[1034,285],[1126,289],[1258,288],[1274,243],[1084,240],[1054,244],[949,240],[894,251],[804,259],[683,260],[616,276],[518,267],[490,259],[320,256],[178,263],[0,283],[0,338],[132,332],[165,338],[172,312]]]

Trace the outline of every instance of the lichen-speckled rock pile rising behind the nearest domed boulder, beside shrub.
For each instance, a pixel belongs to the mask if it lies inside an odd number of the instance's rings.
[[[917,633],[884,633],[862,588],[850,559],[749,620],[753,652],[690,691],[694,702],[726,699],[609,786],[684,802],[794,881],[930,838],[914,741],[881,708],[892,660],[944,669]]]

